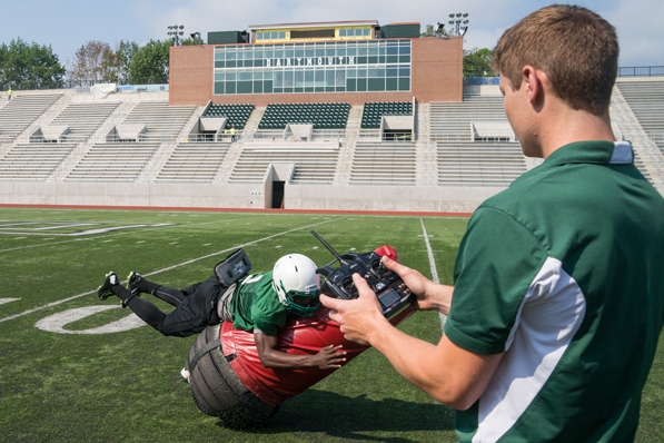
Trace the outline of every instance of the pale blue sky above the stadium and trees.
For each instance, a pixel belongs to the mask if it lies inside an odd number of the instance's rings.
[[[145,45],[166,39],[169,24],[186,35],[246,30],[250,24],[304,21],[378,20],[446,22],[450,12],[468,12],[465,48],[493,48],[509,26],[551,1],[479,0],[20,0],[2,4],[0,42],[21,38],[50,45],[67,65],[83,43],[120,40]],[[664,1],[586,0],[585,6],[612,22],[621,40],[621,67],[664,66]]]

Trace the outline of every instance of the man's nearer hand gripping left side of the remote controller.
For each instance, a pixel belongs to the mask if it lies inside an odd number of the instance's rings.
[[[358,298],[339,299],[321,294],[320,303],[334,309],[329,317],[339,323],[346,339],[370,345],[374,332],[393,326],[383,315],[378,298],[367,282],[359,274],[353,274],[353,283],[357,288]]]

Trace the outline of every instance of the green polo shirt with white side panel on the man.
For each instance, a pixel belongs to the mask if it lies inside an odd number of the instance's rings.
[[[628,142],[564,146],[486,200],[455,263],[448,338],[505,353],[463,442],[624,441],[664,318],[664,199]]]

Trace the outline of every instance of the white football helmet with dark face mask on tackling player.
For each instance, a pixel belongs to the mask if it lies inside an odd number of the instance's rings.
[[[279,258],[272,268],[272,286],[279,302],[294,314],[311,316],[320,306],[320,276],[306,255],[288,254]]]

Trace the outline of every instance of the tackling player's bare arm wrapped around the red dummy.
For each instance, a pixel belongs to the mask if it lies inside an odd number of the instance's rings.
[[[278,338],[276,335],[266,335],[260,331],[254,331],[254,341],[258,348],[260,363],[265,367],[279,367],[285,370],[297,370],[303,367],[319,367],[331,370],[341,367],[346,362],[346,352],[338,351],[341,346],[329,345],[321,348],[314,355],[295,355],[277,351]]]

